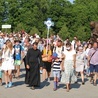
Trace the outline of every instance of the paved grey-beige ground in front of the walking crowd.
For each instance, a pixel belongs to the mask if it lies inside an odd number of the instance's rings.
[[[21,78],[13,79],[12,88],[0,87],[0,98],[98,98],[98,85],[93,86],[89,83],[89,79],[85,79],[85,85],[81,85],[81,80],[77,84],[72,84],[70,92],[66,92],[64,84],[60,83],[57,91],[53,91],[53,81],[41,83],[41,87],[31,90],[24,84],[25,70],[21,66]],[[52,75],[51,75],[52,77]]]

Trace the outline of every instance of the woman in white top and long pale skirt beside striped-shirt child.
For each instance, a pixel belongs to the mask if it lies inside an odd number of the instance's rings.
[[[66,91],[69,92],[71,83],[75,83],[77,81],[74,73],[74,69],[76,67],[76,52],[72,49],[71,43],[66,44],[64,56],[64,73],[62,74],[61,82],[66,84]]]

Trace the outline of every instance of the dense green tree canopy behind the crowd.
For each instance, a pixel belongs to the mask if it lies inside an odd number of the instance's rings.
[[[0,0],[0,27],[11,24],[11,31],[46,36],[44,21],[51,18],[54,26],[50,32],[58,33],[62,39],[77,36],[87,40],[90,22],[98,21],[97,9],[98,0]]]

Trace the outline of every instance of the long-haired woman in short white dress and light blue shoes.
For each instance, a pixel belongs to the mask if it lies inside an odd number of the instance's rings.
[[[7,41],[2,54],[2,70],[4,70],[5,88],[12,86],[12,70],[14,69],[14,48],[12,42]],[[9,80],[9,84],[8,84]]]

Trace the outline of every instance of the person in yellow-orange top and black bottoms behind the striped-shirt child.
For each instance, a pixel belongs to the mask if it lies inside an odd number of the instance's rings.
[[[43,81],[48,77],[50,80],[51,64],[52,64],[52,50],[50,45],[45,45],[42,51],[42,61],[43,61]]]

